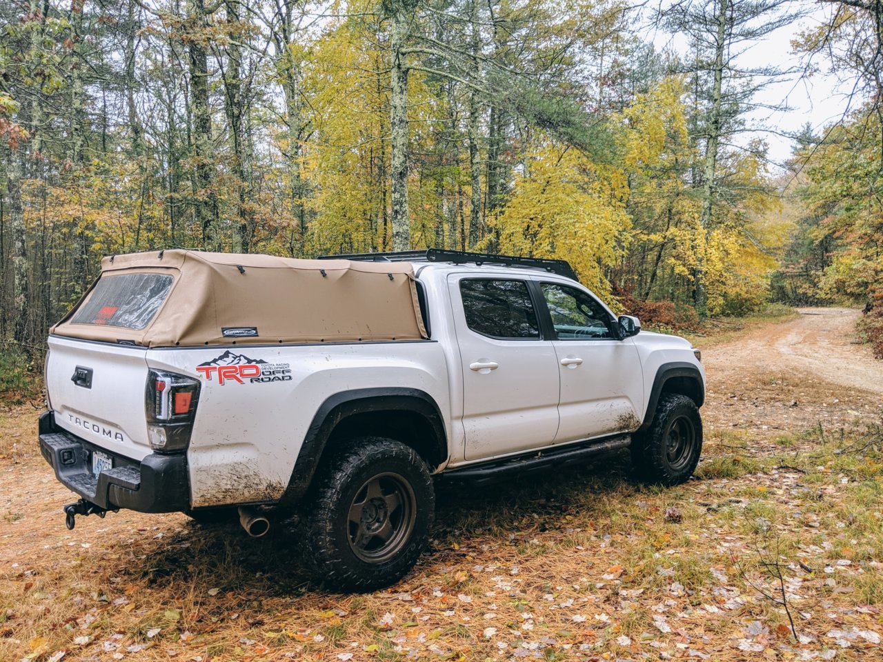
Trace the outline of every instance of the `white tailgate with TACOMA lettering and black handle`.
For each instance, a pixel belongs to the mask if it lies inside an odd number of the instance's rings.
[[[147,445],[147,350],[49,336],[46,389],[56,424],[133,460]]]

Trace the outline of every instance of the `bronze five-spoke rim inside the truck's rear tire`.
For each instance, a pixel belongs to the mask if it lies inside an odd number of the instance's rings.
[[[417,518],[417,499],[396,473],[368,478],[350,505],[348,532],[352,553],[366,563],[382,563],[407,545]]]

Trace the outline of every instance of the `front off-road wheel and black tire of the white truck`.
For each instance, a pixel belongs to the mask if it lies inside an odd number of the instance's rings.
[[[631,441],[631,462],[647,483],[680,485],[693,475],[701,454],[702,418],[686,395],[662,395],[650,428]]]

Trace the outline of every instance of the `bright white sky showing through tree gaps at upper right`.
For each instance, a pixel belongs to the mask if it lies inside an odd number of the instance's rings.
[[[849,89],[843,89],[838,81],[826,72],[827,62],[823,56],[816,56],[813,59],[813,64],[819,69],[819,73],[802,77],[806,64],[805,56],[791,53],[790,41],[805,28],[826,22],[826,9],[819,7],[804,19],[799,19],[766,35],[763,41],[758,41],[736,59],[737,65],[746,69],[776,65],[783,70],[792,67],[799,70],[787,79],[761,90],[755,99],[755,102],[771,106],[786,101],[789,110],[755,109],[747,115],[749,125],[763,126],[773,132],[743,133],[736,139],[737,144],[745,144],[751,138],[758,136],[765,139],[769,147],[770,170],[773,173],[776,172],[776,164],[788,160],[793,146],[791,139],[777,135],[775,132],[797,132],[809,122],[819,134],[826,124],[839,120],[847,107],[846,93]],[[683,35],[673,36],[660,32],[654,35],[653,42],[658,49],[674,49],[679,53],[686,51],[687,41]]]

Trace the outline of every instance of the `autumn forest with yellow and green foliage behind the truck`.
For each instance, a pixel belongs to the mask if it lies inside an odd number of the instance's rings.
[[[743,64],[810,12],[804,71]],[[814,72],[842,115],[774,164],[751,113]],[[883,0],[0,0],[0,341],[103,255],[443,247],[661,327],[864,305],[881,353],[881,120]]]

